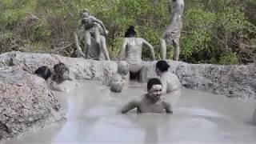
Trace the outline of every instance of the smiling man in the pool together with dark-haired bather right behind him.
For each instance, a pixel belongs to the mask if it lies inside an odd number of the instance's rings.
[[[150,78],[147,82],[147,93],[141,100],[133,100],[126,104],[121,110],[126,113],[137,108],[138,113],[162,113],[173,114],[171,105],[162,99],[162,94],[180,90],[181,83],[177,75],[170,73],[170,65],[160,60],[156,63],[155,72],[160,78]]]

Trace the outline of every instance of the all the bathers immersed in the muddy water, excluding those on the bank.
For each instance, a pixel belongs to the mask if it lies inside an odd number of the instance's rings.
[[[127,66],[128,63],[121,61],[118,63],[117,74],[114,74],[113,80],[110,84],[110,90],[115,92],[121,92],[122,86],[125,85],[123,77],[128,74]],[[126,104],[122,108],[122,113],[126,113],[129,110],[137,108],[139,113],[162,113],[164,110],[166,113],[172,114],[170,103],[162,100],[162,94],[173,92],[180,89],[180,82],[175,74],[168,71],[169,64],[160,60],[156,63],[155,72],[160,78],[150,78],[147,82],[147,94],[144,95],[142,100],[133,100]],[[43,78],[47,85],[52,90],[58,90],[63,92],[70,91],[70,85],[63,86],[64,82],[72,82],[72,85],[78,86],[75,82],[68,66],[64,63],[59,62],[54,65],[53,70],[48,66],[40,66],[34,71],[39,77]]]

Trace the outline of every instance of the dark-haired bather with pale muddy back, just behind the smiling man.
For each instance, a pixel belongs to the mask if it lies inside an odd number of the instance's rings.
[[[177,75],[168,72],[169,67],[170,65],[164,60],[160,60],[156,64],[155,72],[160,76],[162,82],[162,94],[180,90],[181,87]]]

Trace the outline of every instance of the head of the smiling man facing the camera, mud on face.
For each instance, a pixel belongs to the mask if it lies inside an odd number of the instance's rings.
[[[158,102],[162,95],[162,83],[158,78],[150,78],[147,82],[147,98]]]

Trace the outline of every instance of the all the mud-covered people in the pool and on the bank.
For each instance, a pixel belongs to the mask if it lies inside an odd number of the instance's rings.
[[[161,57],[166,59],[166,42],[169,42],[174,46],[174,60],[178,61],[184,2],[183,0],[172,0],[172,2],[174,4],[170,13],[170,26],[166,27],[166,31],[160,38]],[[108,34],[108,30],[106,30],[103,22],[92,16],[89,10],[82,10],[81,25],[78,31],[74,33],[77,47],[74,53],[76,57],[110,60],[106,48],[106,34]],[[119,55],[118,70],[110,82],[110,90],[114,92],[122,92],[122,87],[127,83],[127,77],[131,79],[136,78],[141,81],[143,46],[150,49],[152,59],[155,60],[154,47],[144,38],[136,38],[134,26],[129,26],[124,36]],[[82,39],[85,40],[85,50],[82,50],[79,44],[79,40]],[[147,94],[145,94],[145,97],[141,101],[129,102],[122,109],[122,113],[126,113],[128,110],[136,107],[138,112],[161,113],[162,110],[166,110],[166,113],[172,113],[170,104],[161,99],[162,94],[180,89],[178,77],[168,72],[169,67],[166,61],[158,61],[155,72],[160,78],[151,78],[147,82]],[[61,84],[63,82],[74,82],[74,78],[70,77],[69,68],[62,62],[55,65],[53,70],[47,66],[41,66],[34,73],[44,78],[53,90],[69,91],[68,87],[63,87]]]

